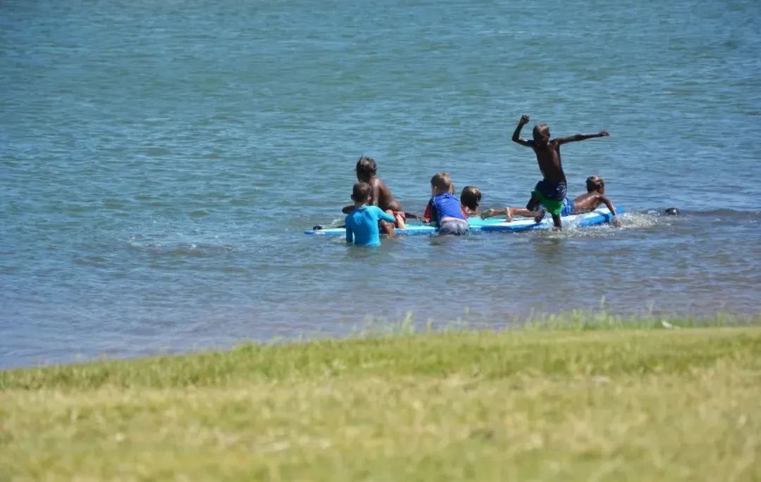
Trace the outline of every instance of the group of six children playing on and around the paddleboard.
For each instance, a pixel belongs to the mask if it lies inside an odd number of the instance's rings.
[[[613,216],[616,209],[605,196],[605,182],[598,176],[587,178],[587,192],[575,199],[566,197],[567,183],[560,160],[560,146],[568,142],[583,141],[595,137],[607,137],[608,133],[577,134],[550,140],[546,124],[533,128],[533,139],[522,139],[521,128],[529,122],[529,116],[521,116],[512,140],[531,147],[537,155],[543,179],[531,192],[526,208],[489,208],[479,211],[481,192],[474,186],[466,186],[460,199],[454,195],[454,184],[448,173],[440,172],[431,177],[431,200],[422,216],[405,213],[388,186],[377,176],[377,164],[371,157],[362,156],[357,161],[357,182],[352,191],[353,205],[345,206],[346,241],[361,246],[380,245],[380,230],[394,236],[394,227],[405,229],[407,217],[419,217],[438,227],[440,236],[459,236],[468,232],[467,218],[482,218],[505,214],[508,222],[514,216],[533,217],[539,223],[546,212],[552,216],[555,229],[562,229],[562,216],[593,211],[606,205]]]

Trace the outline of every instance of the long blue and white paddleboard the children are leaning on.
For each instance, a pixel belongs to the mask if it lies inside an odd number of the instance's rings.
[[[616,207],[616,214],[622,214],[623,208]],[[573,227],[597,226],[605,224],[613,218],[608,208],[599,208],[584,214],[572,214],[562,217],[563,225],[569,224]],[[552,217],[546,215],[541,223],[534,222],[528,217],[512,220],[510,223],[505,221],[505,217],[495,216],[487,219],[480,217],[468,218],[468,225],[471,231],[527,231],[527,230],[549,230],[552,229]],[[407,224],[405,230],[396,229],[396,234],[414,236],[417,234],[435,234],[437,227],[430,224]],[[342,227],[328,227],[321,230],[304,231],[305,234],[316,236],[345,236],[346,230]]]

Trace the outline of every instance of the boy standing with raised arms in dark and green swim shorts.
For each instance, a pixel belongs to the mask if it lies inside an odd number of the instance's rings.
[[[529,121],[524,114],[513,132],[513,142],[525,147],[531,147],[537,154],[539,170],[542,171],[543,179],[537,182],[537,186],[531,192],[531,198],[526,205],[528,211],[537,211],[539,205],[543,205],[549,214],[552,214],[552,223],[556,229],[562,229],[560,213],[565,201],[567,190],[565,173],[560,160],[560,146],[568,142],[584,141],[584,139],[607,137],[608,133],[600,131],[597,134],[577,134],[567,138],[549,138],[549,127],[546,124],[538,124],[533,128],[533,140],[521,139],[521,128]],[[541,217],[544,213],[541,213]],[[537,216],[537,223],[541,220]]]

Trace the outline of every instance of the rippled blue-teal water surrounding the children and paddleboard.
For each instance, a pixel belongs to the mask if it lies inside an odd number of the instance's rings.
[[[0,366],[502,326],[564,309],[759,312],[761,4],[0,2]],[[374,157],[406,211],[448,170],[539,179],[530,113],[623,227],[386,240],[341,219]],[[530,126],[529,126],[530,127]],[[680,217],[658,212],[680,207]]]

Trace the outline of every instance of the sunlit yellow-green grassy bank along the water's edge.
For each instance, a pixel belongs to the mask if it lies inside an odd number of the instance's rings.
[[[761,328],[572,327],[0,372],[0,480],[761,480]]]

